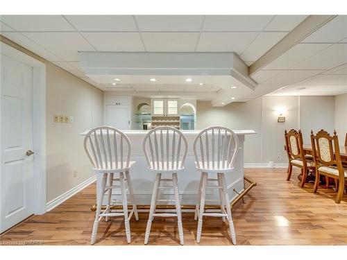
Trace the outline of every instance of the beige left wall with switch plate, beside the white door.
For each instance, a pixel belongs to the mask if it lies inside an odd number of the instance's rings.
[[[92,177],[83,137],[78,134],[103,123],[103,92],[1,35],[0,41],[46,64],[46,201],[49,202]],[[74,123],[53,123],[54,114],[74,116]]]

